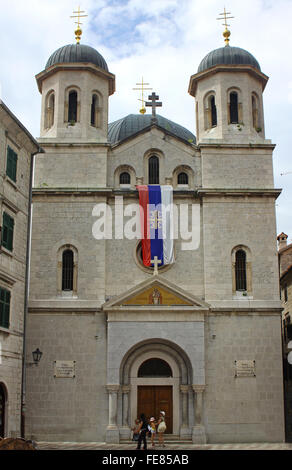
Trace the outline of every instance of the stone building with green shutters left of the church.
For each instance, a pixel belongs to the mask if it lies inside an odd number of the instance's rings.
[[[40,151],[0,100],[0,436],[21,434],[32,156]]]

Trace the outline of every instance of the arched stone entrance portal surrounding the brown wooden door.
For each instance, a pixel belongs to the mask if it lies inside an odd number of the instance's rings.
[[[137,344],[120,368],[123,425],[131,427],[141,413],[158,419],[165,411],[167,433],[180,435],[182,428],[187,432],[191,383],[191,363],[177,345],[155,339]]]

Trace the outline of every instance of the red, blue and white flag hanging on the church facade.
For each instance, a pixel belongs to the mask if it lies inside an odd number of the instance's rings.
[[[142,185],[139,191],[142,256],[144,266],[174,262],[173,191],[170,185]]]

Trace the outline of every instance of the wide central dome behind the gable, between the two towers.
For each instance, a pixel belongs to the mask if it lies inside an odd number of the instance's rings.
[[[156,115],[157,125],[170,134],[187,142],[196,143],[196,137],[187,129],[163,116]],[[111,122],[108,125],[108,138],[112,144],[121,142],[137,132],[151,126],[152,114],[129,114],[128,116]]]

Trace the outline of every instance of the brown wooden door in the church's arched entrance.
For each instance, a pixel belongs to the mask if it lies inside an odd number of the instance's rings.
[[[141,385],[138,386],[137,415],[144,413],[147,419],[154,416],[159,418],[160,411],[165,411],[167,434],[172,433],[172,386],[170,385]]]

